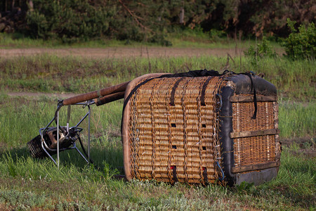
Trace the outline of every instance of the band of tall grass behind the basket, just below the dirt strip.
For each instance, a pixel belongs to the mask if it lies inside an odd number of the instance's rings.
[[[241,61],[241,60],[242,61]],[[149,65],[150,63],[150,65]],[[242,66],[241,66],[242,65]],[[263,58],[257,65],[250,58],[230,60],[198,58],[103,58],[88,59],[41,55],[0,58],[0,87],[12,91],[88,92],[129,81],[151,72],[187,72],[188,70],[254,71],[265,74],[283,98],[315,101],[315,61]]]

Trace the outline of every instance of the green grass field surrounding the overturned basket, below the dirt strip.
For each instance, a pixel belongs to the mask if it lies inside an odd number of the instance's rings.
[[[263,58],[254,65],[242,56],[228,65],[227,58],[212,56],[0,58],[0,210],[315,210],[315,61]],[[81,94],[150,72],[204,68],[263,72],[277,86],[280,136],[286,144],[276,179],[236,187],[114,179],[114,174],[123,173],[122,101],[92,108],[95,165],[85,166],[77,153],[69,151],[61,153],[57,170],[49,160],[32,159],[26,148],[53,117],[57,99],[9,95],[12,91]],[[81,115],[81,108],[73,108],[71,122]],[[65,116],[66,109],[61,110],[62,124]],[[86,131],[81,135],[84,142],[86,135]]]

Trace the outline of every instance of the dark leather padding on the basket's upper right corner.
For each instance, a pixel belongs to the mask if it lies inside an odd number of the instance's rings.
[[[262,77],[251,76],[256,88],[256,94],[261,95],[277,95],[277,88]],[[254,89],[251,90],[251,80],[248,75],[232,75],[227,77],[228,80],[235,84],[235,94],[253,94]]]

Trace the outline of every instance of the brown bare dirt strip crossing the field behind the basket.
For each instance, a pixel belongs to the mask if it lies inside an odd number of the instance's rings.
[[[109,47],[109,48],[68,48],[68,49],[0,49],[0,57],[33,56],[42,53],[57,56],[82,56],[85,58],[122,58],[122,57],[178,57],[178,56],[230,56],[236,55],[235,49],[201,49],[168,47]],[[237,49],[237,53],[242,49]]]

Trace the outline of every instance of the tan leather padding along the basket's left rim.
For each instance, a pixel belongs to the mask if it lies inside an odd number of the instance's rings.
[[[129,96],[131,90],[143,79],[151,78],[151,77],[159,77],[166,73],[152,73],[137,77],[133,79],[126,87],[124,101]],[[123,160],[124,160],[124,172],[126,179],[130,181],[131,176],[131,163],[130,163],[130,145],[129,145],[129,115],[130,115],[130,102],[126,104],[126,107],[123,111],[122,121],[121,121],[121,141],[123,144]]]

